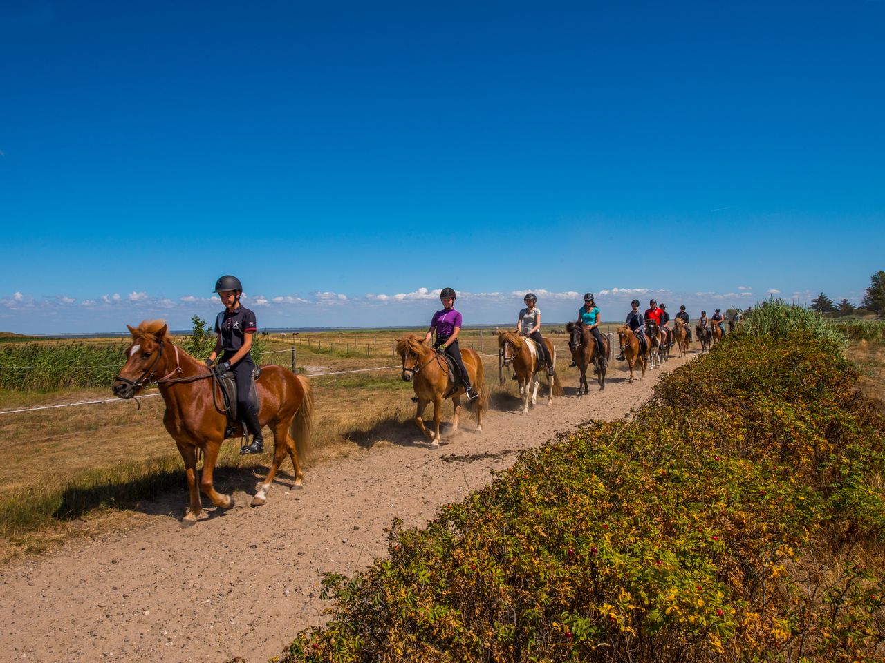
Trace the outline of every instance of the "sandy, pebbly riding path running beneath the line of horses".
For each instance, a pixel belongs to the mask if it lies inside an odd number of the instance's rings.
[[[662,370],[686,361],[674,356]],[[222,474],[216,487],[234,492],[236,506],[210,510],[193,526],[177,520],[182,487],[143,506],[155,517],[142,529],[13,563],[0,573],[0,657],[266,661],[298,630],[322,623],[323,572],[352,574],[386,553],[384,528],[395,517],[422,526],[443,504],[488,484],[490,470],[511,466],[520,450],[638,407],[659,371],[628,385],[623,367],[612,362],[605,391],[591,382],[582,399],[574,398],[577,372],[568,370],[566,398],[548,407],[542,387],[531,414],[516,414],[513,400],[512,412],[489,413],[481,434],[462,415],[439,448],[411,425],[356,440],[347,458],[310,468],[304,489],[282,476],[264,507],[248,506],[255,477]]]

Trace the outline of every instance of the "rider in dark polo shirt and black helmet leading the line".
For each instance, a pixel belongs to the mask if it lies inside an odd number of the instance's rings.
[[[215,318],[218,339],[215,341],[215,349],[206,360],[206,366],[212,366],[212,362],[221,354],[215,372],[221,374],[229,370],[234,374],[237,413],[243,428],[252,434],[252,443],[243,446],[240,453],[262,453],[265,450],[265,439],[258,423],[258,396],[252,388],[255,363],[250,354],[252,338],[258,324],[255,314],[240,303],[242,284],[239,278],[229,274],[219,278],[215,282],[215,292],[225,309]]]

